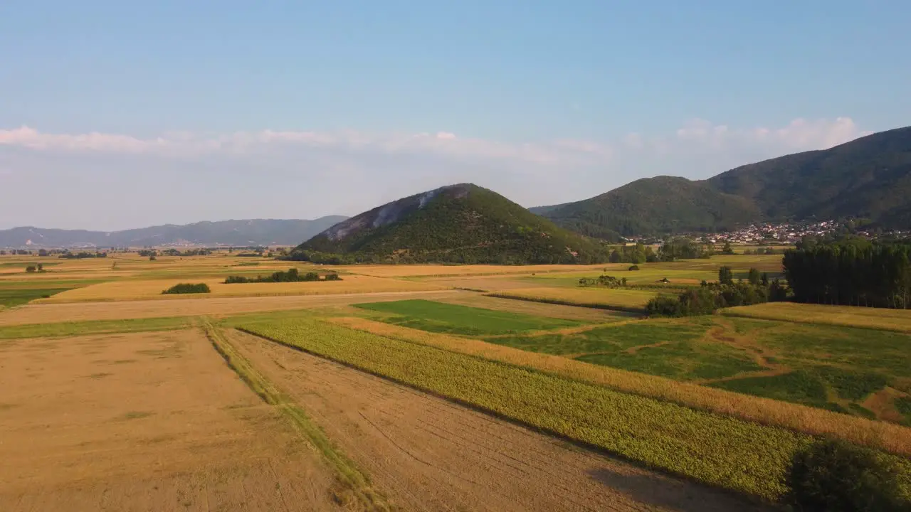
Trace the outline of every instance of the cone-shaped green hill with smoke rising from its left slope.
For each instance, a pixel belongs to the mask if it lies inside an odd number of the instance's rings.
[[[292,251],[312,261],[588,263],[605,261],[597,241],[562,230],[488,189],[430,190],[335,224]]]

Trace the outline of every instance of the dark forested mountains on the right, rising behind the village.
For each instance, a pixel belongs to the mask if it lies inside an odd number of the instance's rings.
[[[911,127],[723,172],[713,178],[639,179],[589,200],[532,211],[610,240],[622,235],[721,230],[762,220],[865,218],[911,228]]]

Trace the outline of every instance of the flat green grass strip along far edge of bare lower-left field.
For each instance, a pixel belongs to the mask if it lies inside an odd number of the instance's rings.
[[[0,327],[0,340],[15,338],[58,338],[99,333],[140,333],[171,331],[189,327],[192,317],[87,320],[85,322],[26,323]]]

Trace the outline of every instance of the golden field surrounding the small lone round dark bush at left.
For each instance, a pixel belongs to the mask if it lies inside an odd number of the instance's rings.
[[[162,295],[175,284],[185,280],[149,280],[104,282],[58,293],[38,303],[94,302],[94,301],[142,301],[142,300],[186,300],[186,295]],[[435,284],[382,279],[362,275],[346,275],[343,281],[333,282],[251,282],[224,284],[220,279],[194,279],[205,282],[211,289],[212,297],[268,297],[273,295],[337,295],[341,293],[377,292],[425,292],[445,290]]]

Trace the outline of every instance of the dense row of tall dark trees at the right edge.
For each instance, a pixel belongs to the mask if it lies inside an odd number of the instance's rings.
[[[911,244],[847,239],[787,251],[784,275],[796,302],[907,309]]]

